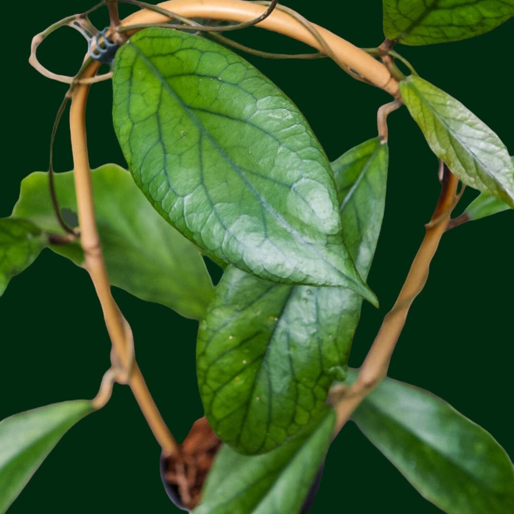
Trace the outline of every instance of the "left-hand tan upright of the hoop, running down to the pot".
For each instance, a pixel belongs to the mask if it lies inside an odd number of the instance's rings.
[[[94,62],[84,72],[84,76],[93,77],[100,63]],[[84,267],[91,280],[102,306],[105,325],[113,348],[120,361],[121,368],[126,372],[125,380],[139,404],[163,455],[174,456],[179,452],[178,445],[164,423],[144,378],[134,360],[132,331],[121,314],[112,294],[107,270],[102,256],[102,247],[95,221],[93,188],[87,153],[85,128],[85,110],[89,84],[78,84],[70,93],[70,136],[74,160],[75,189],[77,191],[77,207],[80,222],[81,244],[84,250]]]

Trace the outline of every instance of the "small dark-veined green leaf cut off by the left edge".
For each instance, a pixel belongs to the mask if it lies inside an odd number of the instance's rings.
[[[0,295],[12,277],[32,264],[46,242],[41,230],[25,219],[0,218]]]

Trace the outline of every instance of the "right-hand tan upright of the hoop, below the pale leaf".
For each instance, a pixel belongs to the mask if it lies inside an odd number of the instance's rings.
[[[439,200],[430,223],[426,225],[423,242],[393,308],[383,319],[375,341],[360,368],[357,380],[347,389],[342,388],[338,391],[336,388],[331,392],[331,401],[335,404],[337,414],[334,436],[350,419],[364,396],[378,386],[387,375],[389,362],[405,325],[409,308],[427,282],[430,262],[450,221],[451,211],[458,198],[457,186],[458,179],[446,169]]]

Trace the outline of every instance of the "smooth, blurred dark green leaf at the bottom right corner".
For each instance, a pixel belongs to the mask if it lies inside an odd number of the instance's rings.
[[[385,379],[352,419],[405,478],[445,512],[514,512],[514,468],[505,450],[442,399]]]

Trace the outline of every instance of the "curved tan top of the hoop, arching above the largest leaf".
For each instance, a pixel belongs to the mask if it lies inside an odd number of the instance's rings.
[[[157,5],[188,18],[208,18],[240,23],[254,20],[262,14],[263,10],[262,5],[243,0],[170,0]],[[120,27],[164,23],[168,20],[169,17],[164,14],[144,9],[127,16],[121,22]],[[399,98],[400,96],[398,80],[391,76],[386,66],[364,50],[323,27],[311,24],[311,27],[320,36],[320,40],[318,40],[298,19],[280,9],[273,10],[265,20],[256,26],[272,32],[279,32],[322,52],[324,49],[321,42],[323,42],[333,54],[336,63],[343,69],[355,70],[366,81],[387,91],[393,97]]]

